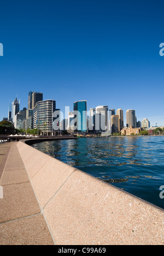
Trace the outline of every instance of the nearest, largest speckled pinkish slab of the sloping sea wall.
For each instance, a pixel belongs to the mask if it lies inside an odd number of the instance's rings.
[[[78,170],[44,213],[57,244],[163,244],[163,211]]]

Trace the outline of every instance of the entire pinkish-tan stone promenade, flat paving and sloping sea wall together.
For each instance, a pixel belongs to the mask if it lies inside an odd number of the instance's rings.
[[[0,245],[164,244],[163,209],[22,141],[0,156]]]

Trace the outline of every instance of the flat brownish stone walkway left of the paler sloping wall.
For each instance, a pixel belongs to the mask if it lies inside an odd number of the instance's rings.
[[[0,145],[0,245],[52,245],[16,144]]]

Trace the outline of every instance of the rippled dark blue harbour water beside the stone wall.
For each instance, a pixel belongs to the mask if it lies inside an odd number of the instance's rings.
[[[164,136],[79,138],[33,147],[164,209]]]

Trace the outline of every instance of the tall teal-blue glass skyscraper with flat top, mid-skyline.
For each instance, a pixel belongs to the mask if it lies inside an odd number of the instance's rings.
[[[87,131],[86,100],[75,101],[73,104],[73,110],[74,110],[75,132],[86,132]]]

